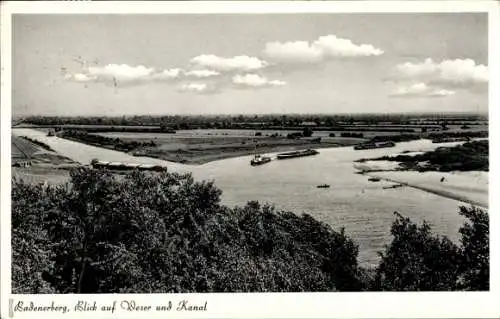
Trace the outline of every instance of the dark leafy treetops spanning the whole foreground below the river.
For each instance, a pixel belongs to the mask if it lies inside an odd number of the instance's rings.
[[[117,178],[86,168],[69,185],[12,182],[13,293],[488,290],[489,218],[460,209],[461,244],[396,216],[375,269],[311,216],[249,202],[175,173]]]

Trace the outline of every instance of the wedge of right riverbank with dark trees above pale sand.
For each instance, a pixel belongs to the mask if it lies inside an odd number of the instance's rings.
[[[432,194],[488,207],[488,140],[434,151],[357,160],[362,174]]]

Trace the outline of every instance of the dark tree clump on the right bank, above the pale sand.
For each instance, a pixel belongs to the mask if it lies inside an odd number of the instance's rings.
[[[419,171],[488,171],[489,143],[487,140],[473,141],[454,147],[440,147],[424,154],[383,156],[374,160],[401,162],[403,167]]]

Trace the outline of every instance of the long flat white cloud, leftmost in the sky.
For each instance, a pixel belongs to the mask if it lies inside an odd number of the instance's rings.
[[[142,83],[177,79],[181,71],[181,69],[157,70],[143,65],[108,64],[88,67],[82,73],[66,75],[66,79],[76,82]]]

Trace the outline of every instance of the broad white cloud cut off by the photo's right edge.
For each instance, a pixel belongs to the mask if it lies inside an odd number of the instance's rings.
[[[488,83],[488,67],[471,59],[444,60],[431,58],[420,63],[396,65],[393,78],[398,81],[422,81],[450,88],[468,88]]]

